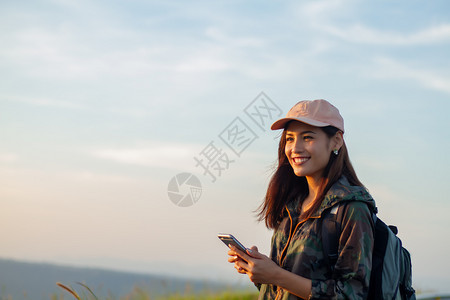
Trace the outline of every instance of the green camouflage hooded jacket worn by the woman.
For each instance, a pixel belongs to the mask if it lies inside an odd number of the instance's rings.
[[[344,201],[346,207],[339,256],[334,268],[324,259],[320,218],[326,209]],[[350,186],[345,177],[326,194],[320,208],[299,222],[298,202],[285,207],[285,217],[272,237],[271,259],[290,272],[312,280],[310,299],[366,299],[373,249],[375,201],[363,187]],[[259,299],[300,299],[277,286],[260,286]]]

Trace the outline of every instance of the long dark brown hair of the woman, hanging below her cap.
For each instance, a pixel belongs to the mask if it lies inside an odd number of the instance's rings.
[[[258,209],[259,221],[264,220],[266,226],[271,229],[277,228],[280,224],[286,204],[298,199],[299,205],[301,205],[309,193],[306,178],[295,175],[286,157],[286,127],[278,145],[278,167],[269,182],[264,202]],[[332,138],[339,131],[333,126],[320,127],[320,129],[325,132],[328,138]],[[307,219],[320,207],[325,194],[341,176],[345,176],[351,185],[363,186],[350,162],[345,142],[338,155],[330,153],[330,160],[324,169],[316,199],[314,199],[311,208],[300,216],[301,219]]]

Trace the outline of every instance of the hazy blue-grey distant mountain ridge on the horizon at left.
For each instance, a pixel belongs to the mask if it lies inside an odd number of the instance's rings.
[[[75,268],[47,263],[29,263],[0,259],[0,299],[49,300],[51,295],[66,294],[56,282],[86,291],[77,282],[86,284],[101,299],[108,294],[117,299],[132,292],[136,286],[150,295],[225,288],[213,282],[169,276],[144,275],[102,269]],[[87,292],[87,291],[86,291]],[[67,294],[65,299],[71,299]]]

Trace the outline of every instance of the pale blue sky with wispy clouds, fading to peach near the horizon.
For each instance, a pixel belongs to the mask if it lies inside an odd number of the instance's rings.
[[[257,223],[277,133],[246,119],[341,111],[358,175],[413,256],[422,290],[450,283],[447,1],[2,1],[0,256],[246,282],[218,232],[269,249]],[[240,157],[219,134],[240,117]],[[194,156],[234,160],[216,182]],[[181,172],[202,196],[180,208]],[[213,274],[213,275],[211,275]]]

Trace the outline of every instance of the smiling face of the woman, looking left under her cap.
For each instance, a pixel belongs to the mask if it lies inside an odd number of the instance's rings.
[[[293,121],[286,128],[285,154],[297,176],[318,182],[337,146],[336,136],[329,138],[319,127]]]

